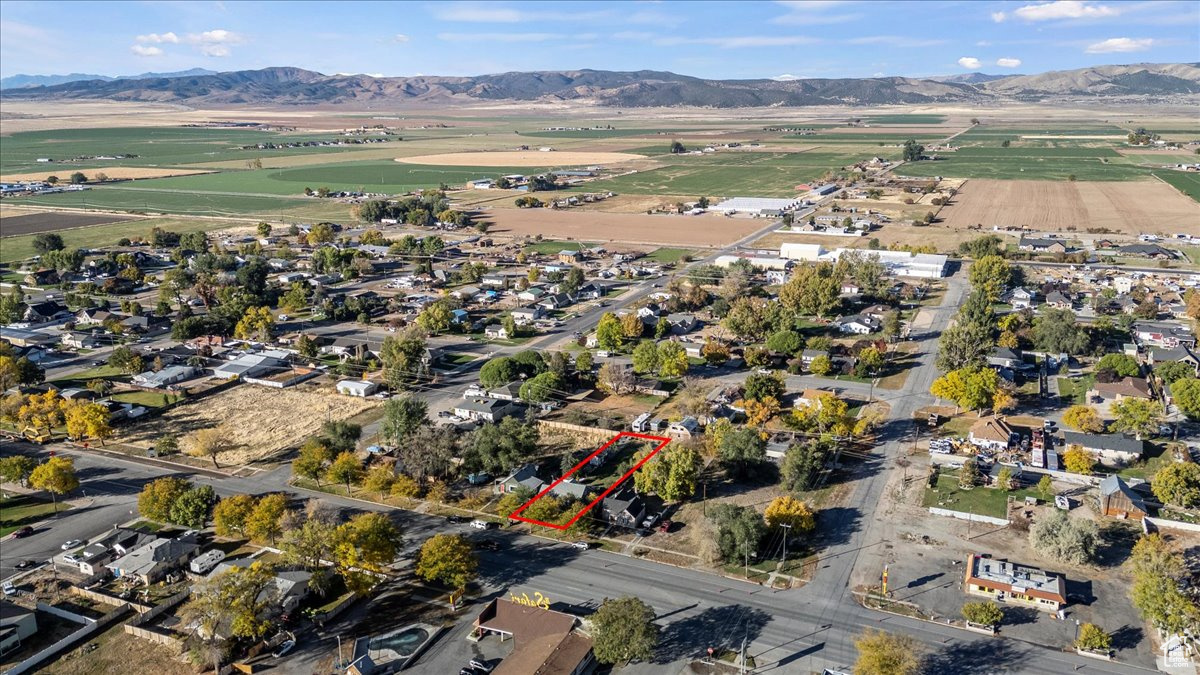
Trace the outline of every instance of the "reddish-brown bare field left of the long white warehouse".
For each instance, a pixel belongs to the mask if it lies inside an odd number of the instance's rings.
[[[766,221],[707,216],[648,216],[552,209],[491,209],[488,234],[659,246],[718,247],[764,227]]]

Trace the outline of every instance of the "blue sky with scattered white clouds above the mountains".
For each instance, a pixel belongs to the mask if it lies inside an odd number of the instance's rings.
[[[1200,2],[0,4],[0,74],[298,66],[468,76],[1043,72],[1200,60]]]

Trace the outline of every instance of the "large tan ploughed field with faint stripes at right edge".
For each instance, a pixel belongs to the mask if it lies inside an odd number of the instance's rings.
[[[1108,227],[1115,232],[1186,231],[1200,204],[1158,181],[1054,183],[968,180],[940,214],[952,228],[1030,226],[1040,231]]]

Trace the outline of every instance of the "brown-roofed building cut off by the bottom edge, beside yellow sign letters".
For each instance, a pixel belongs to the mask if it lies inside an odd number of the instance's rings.
[[[470,639],[494,634],[512,640],[512,651],[492,675],[588,675],[596,668],[592,638],[577,625],[577,619],[550,609],[548,603],[510,592],[509,599],[496,598],[484,608]]]

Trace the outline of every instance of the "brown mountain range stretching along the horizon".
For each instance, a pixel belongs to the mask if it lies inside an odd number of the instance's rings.
[[[8,78],[11,79],[11,78]],[[943,78],[871,77],[707,79],[660,71],[542,71],[475,77],[326,76],[295,67],[214,73],[146,73],[43,86],[6,88],[5,98],[318,104],[385,102],[578,101],[617,107],[792,107],[1061,97],[1151,97],[1200,94],[1200,64],[1094,66],[1040,74]]]

